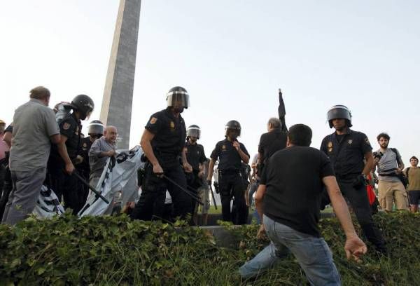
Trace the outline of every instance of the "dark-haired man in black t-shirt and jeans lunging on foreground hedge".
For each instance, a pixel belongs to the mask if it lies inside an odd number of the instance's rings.
[[[330,160],[321,151],[309,147],[311,137],[307,125],[293,125],[288,131],[288,148],[276,152],[267,161],[255,205],[263,220],[258,235],[266,231],[271,243],[239,268],[243,278],[258,275],[290,251],[311,285],[341,284],[330,249],[318,230],[323,186],[346,234],[347,258],[357,259],[367,251],[354,230]]]

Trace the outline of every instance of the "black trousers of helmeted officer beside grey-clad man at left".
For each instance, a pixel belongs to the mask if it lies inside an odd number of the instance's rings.
[[[57,195],[58,200],[64,200],[64,208],[70,208],[76,215],[83,205],[80,206],[78,198],[78,179],[75,175],[67,175],[64,172],[64,164],[48,163],[46,183]]]

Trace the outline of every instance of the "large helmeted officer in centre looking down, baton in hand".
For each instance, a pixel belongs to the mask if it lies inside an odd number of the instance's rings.
[[[192,168],[183,151],[186,124],[181,116],[188,106],[187,90],[181,86],[171,88],[167,93],[167,109],[153,114],[145,126],[140,145],[146,165],[141,196],[131,214],[132,219],[151,220],[153,214],[162,217],[166,190],[172,197],[174,217],[185,217],[191,210],[183,168],[189,172]]]

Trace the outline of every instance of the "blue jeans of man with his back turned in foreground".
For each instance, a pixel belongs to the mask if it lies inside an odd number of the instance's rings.
[[[289,226],[263,217],[265,231],[271,243],[253,259],[239,268],[242,278],[252,278],[285,257],[295,255],[311,285],[341,285],[330,248],[323,238],[300,233]]]

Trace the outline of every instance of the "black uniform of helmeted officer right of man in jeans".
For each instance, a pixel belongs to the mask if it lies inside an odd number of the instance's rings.
[[[358,179],[365,166],[363,158],[367,152],[372,151],[369,139],[362,132],[350,129],[345,135],[337,135],[334,132],[323,139],[321,151],[330,157],[339,189],[353,207],[365,236],[376,245],[379,251],[383,251],[385,249],[384,238],[372,220],[366,186]],[[321,208],[328,203],[330,200],[325,192]]]

